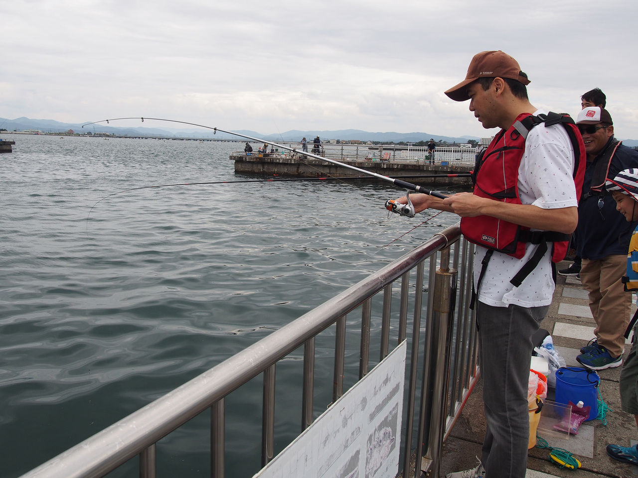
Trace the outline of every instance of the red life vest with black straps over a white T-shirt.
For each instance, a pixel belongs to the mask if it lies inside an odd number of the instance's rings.
[[[521,113],[507,131],[501,129],[489,147],[477,158],[472,178],[474,182],[473,194],[481,198],[494,199],[494,201],[521,204],[518,191],[518,171],[525,150],[525,140],[530,130],[541,123],[544,123],[545,126],[561,124],[565,127],[574,148],[573,177],[576,198],[581,196],[586,163],[582,136],[575,126],[574,120],[568,115],[551,112],[538,116]],[[519,259],[525,255],[526,243],[545,244],[539,248],[542,250],[542,254],[540,252],[535,254],[539,257],[535,263],[530,264],[528,270],[524,272],[524,276],[512,279],[512,284],[515,286],[519,286],[524,277],[527,277],[531,270],[537,266],[547,250],[548,242],[553,243],[552,260],[554,262],[562,261],[565,258],[569,246],[568,234],[554,231],[530,231],[530,228],[486,215],[463,217],[461,219],[461,232],[470,242]],[[531,261],[532,259],[530,259]],[[519,275],[517,274],[517,276]]]

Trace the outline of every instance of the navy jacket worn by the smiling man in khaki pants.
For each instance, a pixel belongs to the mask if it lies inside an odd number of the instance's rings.
[[[585,177],[582,182],[582,197],[591,191],[591,180],[594,174],[594,165],[600,159],[603,152],[609,147],[613,136],[607,141],[607,145],[590,163],[587,162]],[[616,175],[629,168],[638,168],[638,151],[625,145],[619,145],[609,164],[607,178],[613,179]],[[612,254],[627,254],[629,239],[635,224],[627,222],[625,217],[616,211],[616,201],[607,191],[602,191],[589,198],[581,199],[578,203],[578,227],[576,254],[583,259],[602,259]],[[598,207],[598,201],[602,198],[602,208]]]

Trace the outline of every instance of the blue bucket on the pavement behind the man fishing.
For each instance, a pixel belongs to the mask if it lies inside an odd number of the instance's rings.
[[[561,367],[556,370],[556,403],[567,405],[582,400],[584,407],[591,407],[587,420],[593,420],[598,415],[598,384],[600,377],[593,370]]]

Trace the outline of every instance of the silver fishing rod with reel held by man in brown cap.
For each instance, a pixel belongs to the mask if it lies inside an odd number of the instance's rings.
[[[101,123],[101,122],[108,122],[109,121],[117,121],[117,120],[127,120],[127,119],[137,119],[137,118],[114,118],[114,119],[107,119],[107,120],[100,120],[100,121],[94,121],[94,122],[90,122],[90,123],[86,123],[83,124],[82,127],[84,128],[84,126],[88,126],[89,124],[96,124],[96,123]],[[142,122],[144,122],[144,118],[141,117],[140,118],[142,120]],[[246,138],[247,140],[253,140],[253,141],[257,141],[257,142],[261,142],[262,140],[258,139],[258,138],[253,138],[253,136],[248,136],[247,134],[241,134],[241,133],[234,133],[233,131],[225,131],[224,129],[219,129],[218,127],[211,127],[211,126],[205,126],[203,124],[197,124],[197,123],[191,123],[191,122],[186,122],[186,121],[178,121],[178,120],[169,120],[169,119],[162,119],[162,118],[146,118],[148,120],[155,120],[155,121],[167,121],[167,122],[173,122],[173,123],[180,123],[180,124],[189,124],[191,126],[198,126],[198,127],[203,127],[206,129],[212,129],[213,134],[217,134],[217,132],[219,131],[220,133],[226,133],[226,134],[232,134],[233,136],[239,136],[240,138]],[[320,161],[325,161],[326,163],[332,163],[332,164],[336,164],[337,166],[342,166],[344,168],[348,168],[350,170],[354,170],[354,171],[359,171],[360,173],[364,173],[365,175],[368,176],[372,176],[375,177],[377,179],[386,181],[386,182],[391,182],[392,184],[394,184],[395,186],[401,188],[401,189],[405,189],[406,192],[406,198],[408,199],[408,203],[407,204],[401,204],[398,203],[397,201],[394,201],[393,199],[389,199],[389,201],[386,201],[385,203],[385,208],[389,211],[392,212],[396,212],[397,214],[400,215],[405,215],[408,217],[414,217],[416,214],[415,208],[412,204],[412,201],[410,200],[410,192],[420,192],[422,194],[427,194],[429,196],[434,196],[434,198],[440,198],[440,199],[445,199],[447,198],[447,196],[443,196],[443,194],[440,194],[439,192],[436,191],[432,191],[431,189],[427,189],[425,187],[422,186],[417,186],[416,184],[412,184],[410,182],[406,182],[403,181],[401,179],[395,179],[395,178],[390,178],[388,176],[383,176],[380,175],[378,173],[373,173],[372,171],[367,171],[361,168],[357,168],[356,166],[351,166],[350,164],[346,164],[346,163],[341,163],[339,161],[336,161],[335,159],[329,159],[327,157],[323,157],[323,156],[319,156],[318,154],[313,154],[313,153],[309,153],[307,151],[303,151],[303,150],[299,150],[297,148],[292,148],[289,146],[285,146],[285,145],[281,145],[278,143],[273,143],[272,141],[269,141],[269,143],[273,146],[279,147],[281,149],[286,149],[288,151],[292,151],[293,154],[302,154],[303,156],[308,156],[308,157],[312,157],[315,159],[319,159]]]

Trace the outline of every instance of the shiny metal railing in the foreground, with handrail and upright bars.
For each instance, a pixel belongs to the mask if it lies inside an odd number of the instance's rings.
[[[263,373],[262,467],[274,454],[274,400],[276,364],[304,346],[301,428],[313,422],[315,337],[336,324],[332,402],[343,395],[346,358],[346,314],[359,307],[359,380],[370,363],[373,299],[381,301],[379,360],[387,356],[390,335],[397,344],[408,335],[412,350],[408,360],[408,393],[404,406],[405,436],[401,442],[403,476],[412,475],[410,463],[438,476],[443,440],[449,435],[478,376],[477,338],[468,303],[473,245],[461,239],[452,226],[405,256],[370,275],[319,307],[262,338],[195,379],[174,389],[23,477],[102,477],[139,456],[140,477],[156,475],[156,442],[189,419],[210,409],[211,476],[225,473],[225,397]],[[450,258],[452,264],[450,266]],[[424,284],[425,261],[428,282]],[[440,266],[436,268],[438,262]],[[457,270],[460,265],[460,274]],[[410,275],[413,274],[413,282]],[[399,303],[392,304],[392,286],[401,285]],[[413,284],[413,285],[411,285]],[[424,285],[433,287],[423,307]],[[407,330],[408,308],[413,303],[412,333]],[[425,312],[425,319],[422,315]],[[357,329],[358,331],[359,329]],[[423,336],[423,337],[421,337]],[[421,340],[423,339],[423,340]],[[419,380],[419,364],[422,376]],[[419,383],[420,382],[420,383]],[[415,425],[415,421],[417,424]],[[416,429],[416,430],[415,430]],[[415,433],[416,431],[416,433]],[[413,449],[413,442],[423,444]],[[412,461],[411,461],[412,460]],[[256,472],[257,470],[255,470]]]

